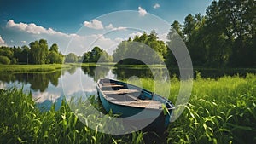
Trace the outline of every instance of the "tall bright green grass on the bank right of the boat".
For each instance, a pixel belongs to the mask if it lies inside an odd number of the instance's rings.
[[[132,82],[138,85],[137,81]],[[141,79],[154,90],[153,79]],[[171,84],[173,102],[179,90],[177,78]],[[256,143],[256,76],[201,78],[197,73],[189,103],[183,114],[166,130],[166,143]]]

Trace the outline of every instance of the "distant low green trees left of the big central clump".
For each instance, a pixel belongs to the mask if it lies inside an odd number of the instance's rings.
[[[91,51],[77,56],[73,53],[63,55],[56,43],[48,46],[47,40],[40,39],[29,43],[29,46],[0,47],[0,64],[61,64],[74,62],[96,62],[101,58],[102,62],[111,62],[113,57],[99,48],[94,47]]]

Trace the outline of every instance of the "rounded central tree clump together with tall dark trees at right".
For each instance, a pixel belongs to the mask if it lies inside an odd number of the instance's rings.
[[[249,67],[256,66],[256,3],[253,0],[213,1],[207,14],[188,14],[183,24],[173,21],[167,42],[158,40],[157,34],[143,32],[142,36],[119,43],[113,60],[121,64],[142,64],[140,60],[121,60],[127,55],[142,55],[153,64],[165,61],[167,66],[177,66],[172,51],[177,34],[189,50],[194,66],[202,67]],[[158,56],[141,50],[140,42],[154,49]],[[173,48],[178,49],[178,48]],[[143,60],[144,60],[143,59]]]

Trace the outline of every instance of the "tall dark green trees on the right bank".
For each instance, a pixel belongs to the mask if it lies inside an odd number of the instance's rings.
[[[183,25],[172,23],[173,33],[183,38],[195,66],[249,67],[256,63],[256,3],[253,0],[213,1],[207,15],[189,14]],[[177,65],[172,52],[167,52],[167,64]]]

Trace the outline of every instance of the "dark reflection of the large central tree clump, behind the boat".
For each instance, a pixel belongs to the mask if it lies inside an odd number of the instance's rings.
[[[154,78],[154,79],[165,79],[168,75],[166,69],[162,68],[143,68],[143,69],[131,69],[131,68],[114,68],[113,74],[118,79],[127,79],[131,76],[137,76],[138,78]]]

